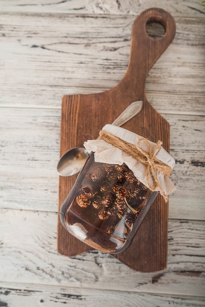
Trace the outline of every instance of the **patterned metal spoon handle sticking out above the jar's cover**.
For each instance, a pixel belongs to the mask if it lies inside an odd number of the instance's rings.
[[[133,118],[137,113],[140,112],[142,109],[143,102],[142,101],[136,101],[132,102],[128,107],[117,117],[117,119],[113,122],[112,125],[115,126],[122,126],[125,124],[128,120]]]

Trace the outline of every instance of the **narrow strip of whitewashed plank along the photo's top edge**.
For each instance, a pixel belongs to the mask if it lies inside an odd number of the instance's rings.
[[[204,7],[200,1],[159,0],[1,0],[2,11],[14,12],[61,12],[78,14],[130,14],[138,15],[150,7],[160,7],[173,16],[201,17]]]

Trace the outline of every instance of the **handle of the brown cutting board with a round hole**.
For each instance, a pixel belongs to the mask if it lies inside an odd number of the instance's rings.
[[[153,22],[164,27],[163,37],[153,38],[147,34],[146,25]],[[150,8],[142,12],[133,24],[129,64],[124,77],[117,86],[121,87],[123,84],[126,91],[134,88],[138,93],[138,99],[143,100],[146,76],[174,39],[175,32],[175,20],[167,11]]]

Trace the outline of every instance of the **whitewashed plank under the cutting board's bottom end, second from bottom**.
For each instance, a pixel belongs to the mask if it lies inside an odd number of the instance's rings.
[[[153,273],[133,271],[97,251],[58,255],[56,224],[56,213],[0,209],[1,282],[204,297],[204,222],[171,220],[168,268]]]

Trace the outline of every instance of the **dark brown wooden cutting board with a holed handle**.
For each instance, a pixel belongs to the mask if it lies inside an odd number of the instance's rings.
[[[160,23],[164,27],[162,38],[148,36],[146,24],[150,22]],[[168,12],[158,8],[144,11],[133,24],[129,64],[119,84],[102,93],[62,97],[60,156],[72,147],[83,147],[87,139],[97,138],[105,124],[111,124],[130,103],[137,100],[143,101],[143,108],[123,128],[153,142],[161,140],[169,152],[170,127],[147,102],[145,80],[150,68],[172,42],[175,31],[175,21]],[[59,208],[76,178],[77,175],[59,178]],[[141,272],[165,269],[167,234],[168,204],[158,195],[130,247],[113,256]],[[62,227],[59,218],[57,248],[64,256],[76,256],[92,250],[70,235]]]

